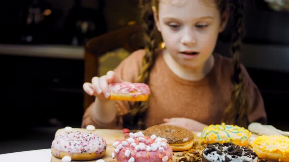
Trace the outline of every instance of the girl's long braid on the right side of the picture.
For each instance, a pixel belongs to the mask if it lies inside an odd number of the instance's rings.
[[[244,0],[238,0],[237,4],[235,4],[235,6],[233,5],[235,23],[232,35],[231,54],[233,55],[234,60],[234,73],[232,75],[232,84],[234,89],[231,95],[231,102],[223,113],[223,121],[247,127],[247,113],[249,110],[245,93],[243,91],[244,87],[240,61],[244,3]]]

